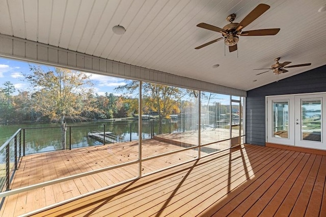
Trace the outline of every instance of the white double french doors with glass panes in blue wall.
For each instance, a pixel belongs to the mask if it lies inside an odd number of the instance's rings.
[[[266,97],[266,141],[326,150],[326,94]]]

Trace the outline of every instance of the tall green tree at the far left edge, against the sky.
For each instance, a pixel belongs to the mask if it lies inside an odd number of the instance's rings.
[[[16,91],[14,85],[11,82],[5,82],[3,84],[5,88],[0,88],[2,97],[0,99],[0,109],[3,114],[3,119],[7,125],[11,114],[13,113],[14,106],[12,104],[12,94]]]

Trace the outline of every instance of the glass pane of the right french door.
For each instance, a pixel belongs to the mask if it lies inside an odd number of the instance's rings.
[[[321,99],[301,100],[301,138],[321,142]]]

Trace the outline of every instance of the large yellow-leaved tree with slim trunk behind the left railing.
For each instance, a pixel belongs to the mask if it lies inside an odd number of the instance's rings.
[[[92,99],[93,84],[89,75],[63,68],[44,71],[41,67],[31,66],[32,74],[24,78],[34,88],[33,107],[42,116],[60,122],[61,143],[66,147],[66,117],[78,118],[82,113],[96,111]],[[91,101],[91,102],[90,102]]]

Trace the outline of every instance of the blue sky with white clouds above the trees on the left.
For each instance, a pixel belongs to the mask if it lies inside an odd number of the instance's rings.
[[[37,64],[32,64],[37,65]],[[54,67],[40,65],[44,70],[53,70]],[[16,89],[15,94],[18,94],[17,90],[28,90],[29,83],[24,82],[22,73],[31,73],[29,63],[16,60],[9,60],[0,58],[0,88],[4,88],[5,82],[11,82]],[[107,75],[91,74],[90,79],[94,84],[94,92],[98,95],[104,95],[105,92],[120,95],[114,89],[120,85],[125,85],[125,79],[118,77],[110,77]]]

